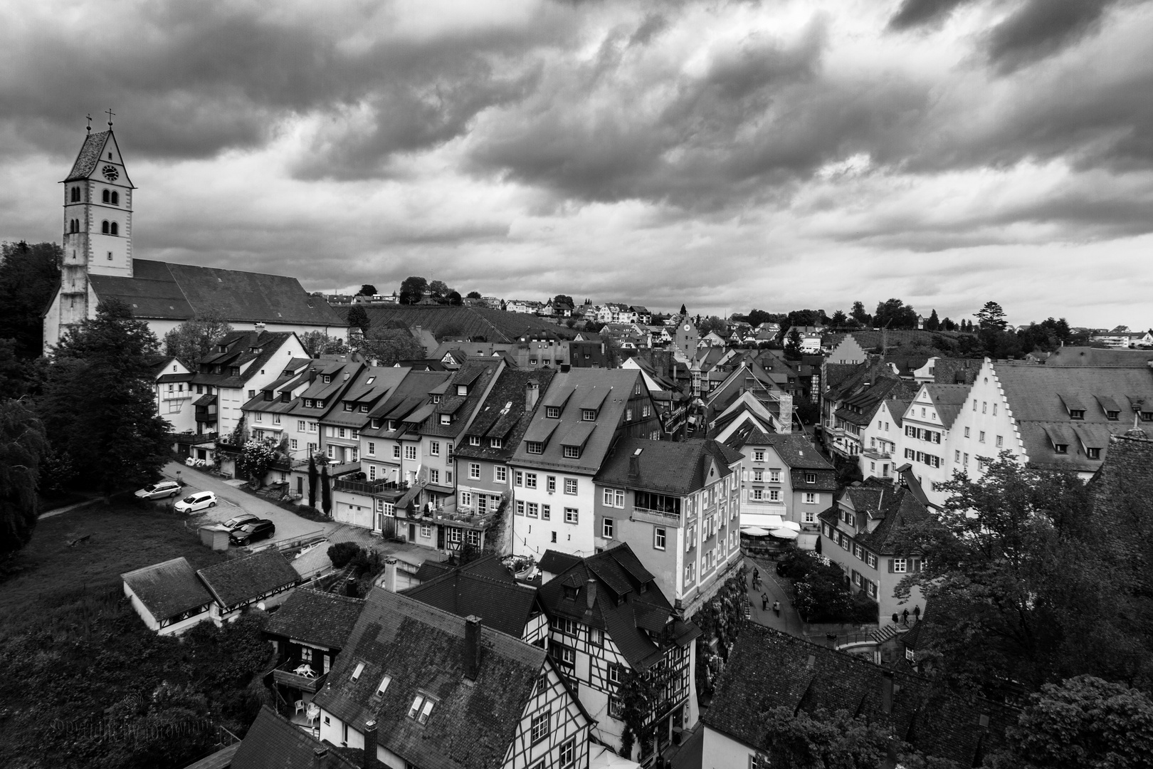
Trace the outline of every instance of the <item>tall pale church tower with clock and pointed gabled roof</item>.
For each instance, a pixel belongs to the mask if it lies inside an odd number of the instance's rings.
[[[112,114],[108,114],[108,130],[93,134],[89,127],[88,131],[71,172],[61,182],[65,258],[60,276],[60,327],[59,334],[52,334],[56,339],[84,318],[96,317],[96,308],[89,307],[90,274],[133,277],[135,188],[112,134]]]

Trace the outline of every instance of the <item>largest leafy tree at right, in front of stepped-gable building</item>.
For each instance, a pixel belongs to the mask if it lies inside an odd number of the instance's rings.
[[[1131,576],[1141,570],[1102,536],[1113,527],[1076,475],[1002,452],[979,480],[955,474],[939,488],[949,495],[940,522],[909,526],[895,544],[924,553],[897,595],[918,585],[948,608],[929,611],[921,631],[947,684],[995,692],[1011,680],[1038,691],[1080,673],[1148,674],[1153,612]]]

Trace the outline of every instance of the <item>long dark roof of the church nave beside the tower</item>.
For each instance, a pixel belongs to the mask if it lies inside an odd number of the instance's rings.
[[[90,274],[101,299],[123,300],[138,318],[186,321],[219,312],[226,321],[344,326],[324,300],[287,276],[133,259],[131,278]]]

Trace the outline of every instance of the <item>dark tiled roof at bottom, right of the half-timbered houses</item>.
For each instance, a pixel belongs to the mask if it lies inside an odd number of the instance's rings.
[[[891,700],[882,694],[890,676]],[[940,693],[918,676],[887,671],[860,657],[746,623],[702,719],[710,729],[763,748],[768,729],[762,713],[779,707],[864,715],[919,752],[962,767],[980,766],[985,755],[1000,748],[1005,727],[1016,724],[1018,716],[1005,706],[967,702]]]

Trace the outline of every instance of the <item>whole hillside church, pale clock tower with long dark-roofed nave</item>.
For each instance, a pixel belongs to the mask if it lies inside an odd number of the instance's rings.
[[[112,299],[123,301],[157,337],[217,314],[238,331],[319,331],[347,340],[347,324],[295,278],[134,258],[136,188],[111,125],[88,135],[62,183],[63,264],[44,311],[45,352]]]

